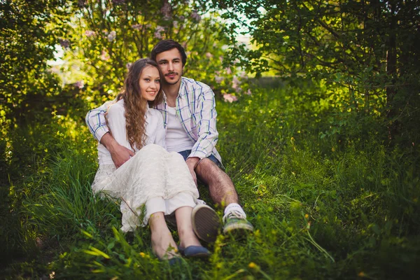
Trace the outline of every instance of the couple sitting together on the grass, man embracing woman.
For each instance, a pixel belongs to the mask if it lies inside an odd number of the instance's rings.
[[[198,238],[212,242],[221,227],[216,211],[198,200],[197,178],[226,206],[223,233],[253,230],[215,148],[214,92],[182,77],[186,59],[179,43],[160,41],[151,59],[130,66],[117,99],[86,116],[99,141],[92,190],[121,200],[123,231],[150,225],[153,252],[169,262],[179,253],[208,257]],[[167,227],[174,220],[179,246]]]

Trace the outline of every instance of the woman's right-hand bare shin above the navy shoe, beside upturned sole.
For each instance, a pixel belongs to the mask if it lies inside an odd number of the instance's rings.
[[[192,207],[180,207],[175,211],[176,225],[178,226],[179,246],[187,248],[188,246],[201,246],[193,231],[191,223]]]

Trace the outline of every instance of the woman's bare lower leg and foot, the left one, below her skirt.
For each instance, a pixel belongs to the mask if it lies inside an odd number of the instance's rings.
[[[163,212],[154,213],[149,218],[148,224],[152,232],[153,252],[161,259],[171,259],[179,256],[177,246],[169,231]]]

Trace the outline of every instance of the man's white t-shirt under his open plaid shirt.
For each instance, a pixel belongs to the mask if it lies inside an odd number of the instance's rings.
[[[167,132],[166,145],[168,152],[181,152],[191,150],[195,142],[188,137],[186,130],[183,129],[179,118],[176,116],[176,109],[167,106]]]

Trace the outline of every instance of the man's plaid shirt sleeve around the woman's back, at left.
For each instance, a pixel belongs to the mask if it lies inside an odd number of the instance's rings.
[[[109,132],[109,128],[106,126],[105,113],[111,104],[114,104],[115,100],[105,102],[97,109],[90,110],[86,115],[86,125],[89,127],[90,133],[97,141],[101,141],[104,134]]]

